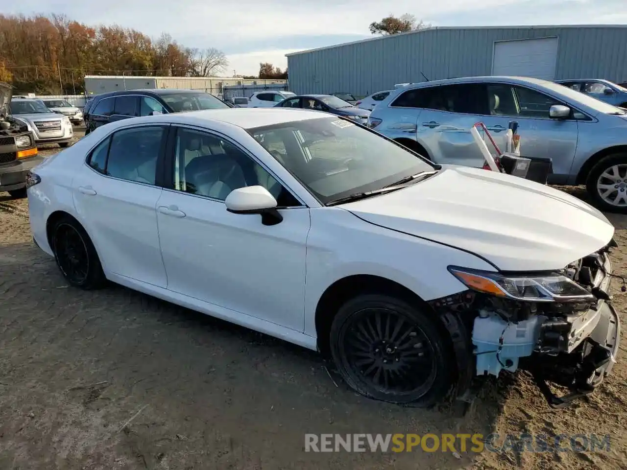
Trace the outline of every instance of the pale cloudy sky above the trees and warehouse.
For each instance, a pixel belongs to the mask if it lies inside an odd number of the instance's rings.
[[[20,0],[4,2],[2,13],[65,13],[152,38],[167,31],[185,46],[224,51],[226,75],[256,75],[260,62],[285,68],[292,51],[371,38],[368,25],[390,13],[433,26],[625,24],[627,0]]]

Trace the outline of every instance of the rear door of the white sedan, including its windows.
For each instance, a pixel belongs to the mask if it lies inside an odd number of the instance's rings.
[[[114,132],[75,175],[76,211],[106,271],[166,287],[155,185],[166,127],[142,125]]]

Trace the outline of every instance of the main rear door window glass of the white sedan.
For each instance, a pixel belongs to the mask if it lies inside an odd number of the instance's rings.
[[[164,127],[142,126],[115,132],[107,159],[107,175],[155,184]]]

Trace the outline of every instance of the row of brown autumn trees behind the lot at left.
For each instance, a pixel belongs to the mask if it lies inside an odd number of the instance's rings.
[[[207,76],[226,67],[221,51],[186,48],[167,33],[151,39],[121,26],[93,28],[65,15],[0,14],[0,79],[16,93],[73,93],[85,75]]]

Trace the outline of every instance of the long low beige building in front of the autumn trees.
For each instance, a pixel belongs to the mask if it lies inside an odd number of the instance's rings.
[[[140,88],[184,88],[201,90],[212,95],[222,95],[224,86],[253,85],[260,88],[284,84],[285,80],[248,80],[223,76],[187,77],[187,76],[103,76],[86,75],[85,91],[87,95],[98,95],[117,90],[139,90]]]

